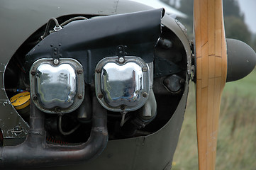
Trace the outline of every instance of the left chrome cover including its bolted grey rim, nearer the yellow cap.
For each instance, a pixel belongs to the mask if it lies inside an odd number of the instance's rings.
[[[69,113],[84,96],[83,75],[77,72],[82,65],[73,59],[54,61],[41,59],[31,67],[31,96],[35,106],[46,113]]]

